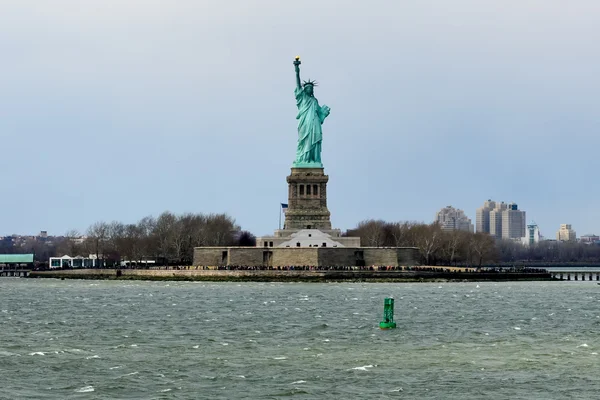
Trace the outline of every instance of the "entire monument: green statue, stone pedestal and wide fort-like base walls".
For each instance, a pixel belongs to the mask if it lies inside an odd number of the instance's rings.
[[[331,113],[319,105],[312,80],[302,82],[300,57],[294,62],[294,97],[298,141],[296,158],[287,177],[288,202],[283,229],[273,236],[257,238],[254,248],[196,247],[194,266],[236,266],[280,268],[286,266],[322,267],[417,265],[416,247],[362,247],[360,237],[343,236],[332,228],[327,207],[327,183],[321,152],[323,123]]]

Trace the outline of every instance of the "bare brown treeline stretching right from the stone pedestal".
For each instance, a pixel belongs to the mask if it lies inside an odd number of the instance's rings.
[[[496,240],[486,233],[444,231],[437,223],[365,220],[347,236],[368,247],[418,247],[425,265],[600,263],[600,246],[576,242],[541,241],[531,246]]]

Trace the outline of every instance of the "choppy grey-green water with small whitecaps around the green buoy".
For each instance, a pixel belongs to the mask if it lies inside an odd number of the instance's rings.
[[[599,306],[595,282],[2,279],[0,398],[592,399]]]

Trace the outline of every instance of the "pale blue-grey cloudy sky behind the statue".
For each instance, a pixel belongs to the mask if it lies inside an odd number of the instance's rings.
[[[277,229],[294,56],[334,227],[515,202],[600,234],[597,0],[3,0],[0,235],[163,211]]]

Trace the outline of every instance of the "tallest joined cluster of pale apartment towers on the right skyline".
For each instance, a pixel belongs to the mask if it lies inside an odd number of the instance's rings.
[[[525,237],[525,211],[519,210],[515,203],[486,201],[477,209],[476,223],[477,232],[486,232],[498,239]]]

